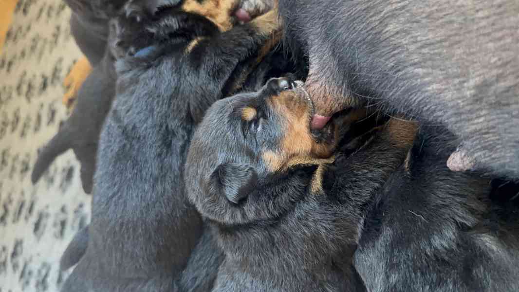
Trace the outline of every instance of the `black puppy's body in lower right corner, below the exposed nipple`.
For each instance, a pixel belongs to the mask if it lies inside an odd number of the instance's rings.
[[[447,169],[436,130],[364,207],[356,269],[371,291],[517,291],[517,217],[496,216],[487,180]]]

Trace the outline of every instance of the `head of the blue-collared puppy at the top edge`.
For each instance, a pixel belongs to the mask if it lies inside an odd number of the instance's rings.
[[[130,0],[111,21],[116,39],[110,46],[119,59],[127,55],[145,57],[161,43],[196,44],[242,23],[241,15],[247,15],[245,18],[250,21],[276,3],[275,0]]]

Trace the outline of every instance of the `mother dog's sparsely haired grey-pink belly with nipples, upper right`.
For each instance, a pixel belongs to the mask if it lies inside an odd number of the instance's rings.
[[[455,134],[453,170],[519,179],[519,2],[280,2],[317,114],[369,103]],[[317,117],[316,126],[325,119]]]

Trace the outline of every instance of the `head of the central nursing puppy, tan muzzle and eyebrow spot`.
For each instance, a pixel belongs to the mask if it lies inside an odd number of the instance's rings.
[[[243,224],[276,218],[301,198],[337,141],[333,122],[311,132],[313,110],[302,82],[289,78],[213,104],[194,134],[185,172],[202,215]]]

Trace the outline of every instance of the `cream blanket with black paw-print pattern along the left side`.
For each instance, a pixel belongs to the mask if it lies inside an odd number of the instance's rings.
[[[0,292],[59,291],[59,258],[89,221],[72,151],[35,186],[37,150],[66,118],[62,80],[80,52],[61,0],[20,0],[0,54]]]

